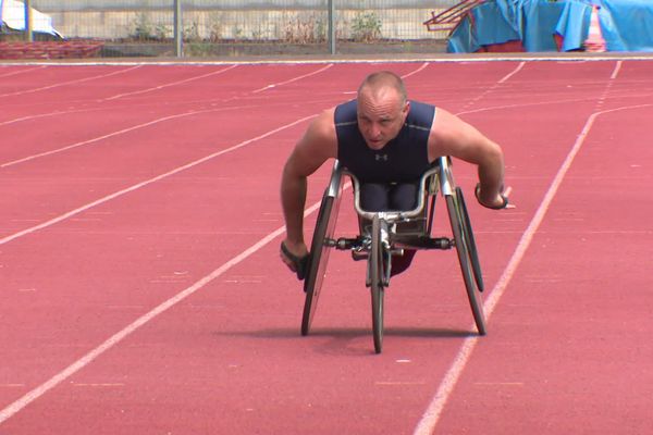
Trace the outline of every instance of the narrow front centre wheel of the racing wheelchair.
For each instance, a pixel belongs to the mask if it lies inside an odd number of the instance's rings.
[[[381,353],[383,348],[383,288],[385,279],[384,249],[381,241],[381,221],[374,216],[372,221],[372,244],[368,260],[370,272],[370,290],[372,296],[372,333],[374,351]]]

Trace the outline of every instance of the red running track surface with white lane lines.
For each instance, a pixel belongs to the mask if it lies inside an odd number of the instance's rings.
[[[485,337],[452,252],[393,279],[383,353],[346,253],[299,335],[281,167],[379,69],[506,152],[516,208],[468,198]],[[0,433],[648,433],[652,76],[618,59],[0,65]],[[470,191],[473,169],[455,173]]]

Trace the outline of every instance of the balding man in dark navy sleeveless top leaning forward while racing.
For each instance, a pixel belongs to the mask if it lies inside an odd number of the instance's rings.
[[[368,75],[355,100],[326,110],[308,126],[288,157],[281,199],[286,237],[281,259],[303,279],[308,248],[304,240],[307,177],[326,160],[337,159],[360,182],[360,206],[369,211],[411,210],[421,175],[440,157],[452,156],[478,166],[477,200],[503,209],[504,157],[501,147],[458,116],[408,100],[399,76],[389,71]],[[414,250],[393,262],[405,271]]]

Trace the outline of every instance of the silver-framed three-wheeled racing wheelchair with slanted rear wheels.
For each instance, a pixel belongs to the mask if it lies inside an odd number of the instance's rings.
[[[334,238],[345,177],[352,179],[354,187],[354,207],[358,214],[359,234],[356,237]],[[435,199],[439,195],[446,202],[453,238],[431,235]],[[485,335],[485,318],[480,295],[483,290],[481,266],[463,190],[454,183],[451,158],[439,158],[421,176],[415,209],[380,212],[370,212],[361,208],[358,179],[336,160],[329,186],[322,196],[310,247],[304,281],[301,335],[308,335],[310,331],[332,249],[350,250],[354,256],[367,257],[366,286],[370,287],[371,293],[374,351],[380,353],[383,346],[383,294],[390,285],[393,256],[402,254],[405,249],[454,248],[458,253],[478,333]]]

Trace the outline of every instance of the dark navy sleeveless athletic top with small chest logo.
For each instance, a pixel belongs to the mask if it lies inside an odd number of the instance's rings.
[[[410,112],[396,138],[382,149],[369,148],[358,129],[357,102],[335,108],[337,160],[361,183],[412,183],[431,166],[428,140],[435,108],[410,101]]]

